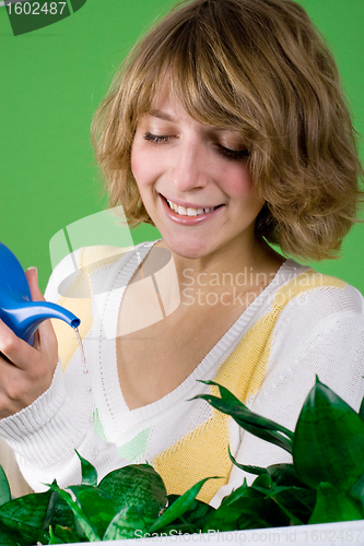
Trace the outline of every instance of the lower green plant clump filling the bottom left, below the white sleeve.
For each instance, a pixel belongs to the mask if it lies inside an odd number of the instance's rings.
[[[79,454],[82,484],[11,499],[0,466],[0,545],[70,544],[168,534],[173,529],[200,530],[213,508],[196,500],[202,479],[185,495],[167,495],[163,479],[149,464],[130,464],[97,473]]]

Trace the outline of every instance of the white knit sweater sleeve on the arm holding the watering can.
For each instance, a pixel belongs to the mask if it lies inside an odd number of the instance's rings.
[[[58,286],[74,273],[75,258],[67,257],[56,268],[46,290],[47,300],[59,298]],[[30,406],[0,420],[0,436],[13,450],[23,476],[35,491],[45,490],[45,484],[55,478],[60,487],[81,482],[81,463],[74,450],[94,464],[98,478],[129,464],[118,456],[114,443],[105,442],[94,431],[85,408],[69,396],[60,360],[50,388]]]

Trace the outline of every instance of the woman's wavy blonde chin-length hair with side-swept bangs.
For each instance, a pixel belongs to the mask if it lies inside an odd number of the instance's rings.
[[[256,233],[282,252],[334,258],[355,222],[363,174],[338,70],[291,0],[177,4],[137,44],[92,124],[110,206],[153,224],[130,168],[137,123],[167,79],[202,123],[240,132],[265,205]]]

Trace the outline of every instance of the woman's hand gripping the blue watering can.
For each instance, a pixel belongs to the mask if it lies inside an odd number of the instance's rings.
[[[37,272],[26,272],[34,301],[44,301]],[[0,418],[28,406],[49,387],[58,360],[57,339],[50,320],[42,322],[33,347],[0,320]]]

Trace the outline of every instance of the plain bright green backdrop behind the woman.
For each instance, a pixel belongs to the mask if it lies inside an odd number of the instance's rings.
[[[0,8],[0,240],[25,269],[38,266],[42,289],[51,272],[51,237],[107,205],[90,143],[93,112],[130,47],[174,3],[87,0],[71,16],[16,37]],[[334,52],[364,134],[364,0],[300,3]],[[361,152],[363,158],[362,142]],[[140,242],[157,232],[144,225],[131,235]],[[361,224],[339,260],[314,265],[364,293],[363,249]]]

